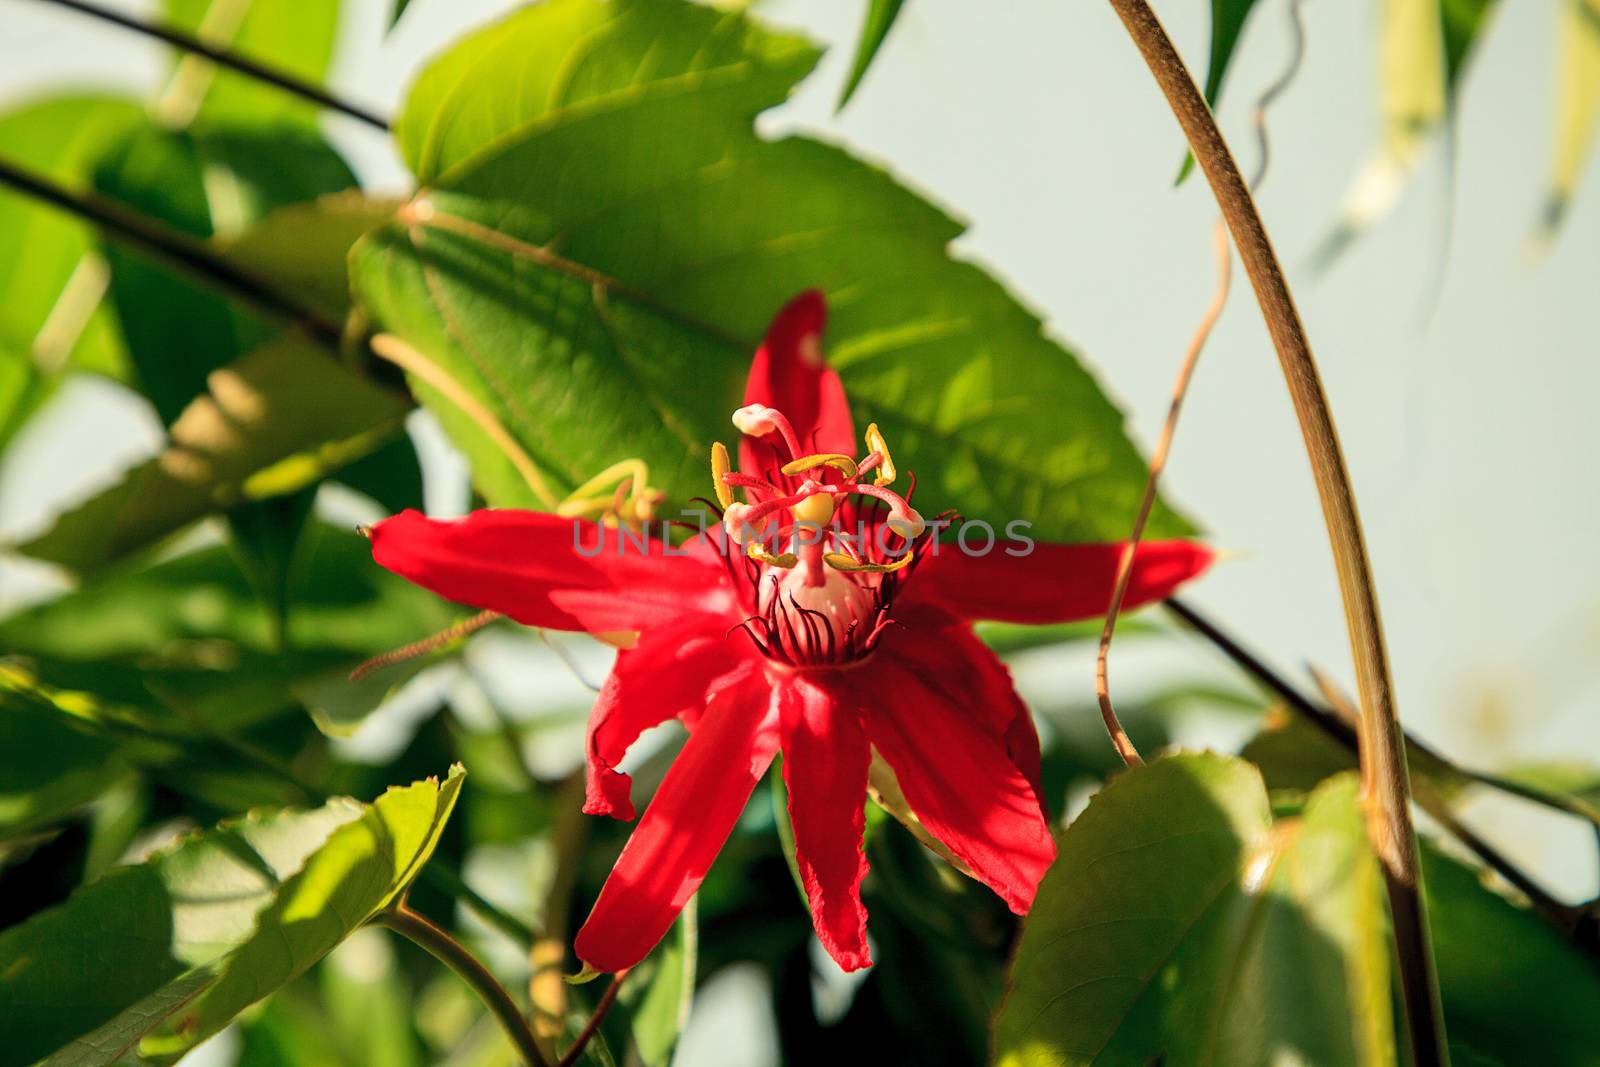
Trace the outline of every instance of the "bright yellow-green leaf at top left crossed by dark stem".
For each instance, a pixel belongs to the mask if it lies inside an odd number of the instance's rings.
[[[166,0],[179,29],[310,85],[322,85],[339,30],[338,0]],[[157,102],[168,126],[312,125],[318,109],[283,90],[192,54],[176,56]]]

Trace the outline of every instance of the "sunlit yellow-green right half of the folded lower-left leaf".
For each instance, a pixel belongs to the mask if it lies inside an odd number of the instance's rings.
[[[306,865],[283,881],[256,929],[221,977],[195,998],[184,1017],[146,1040],[154,1056],[181,1054],[221,1030],[240,1011],[299,977],[355,929],[389,907],[429,861],[461,792],[454,766],[390,789],[362,817],[339,827]]]

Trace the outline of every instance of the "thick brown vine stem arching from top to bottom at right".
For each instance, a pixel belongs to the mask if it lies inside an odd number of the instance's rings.
[[[1394,704],[1378,593],[1349,470],[1339,450],[1333,413],[1317,374],[1306,326],[1301,323],[1283,267],[1272,250],[1238,165],[1155,11],[1147,0],[1110,0],[1110,5],[1166,96],[1168,107],[1182,126],[1189,149],[1216,195],[1245,274],[1250,275],[1256,301],[1261,304],[1267,333],[1272,336],[1294,403],[1294,414],[1299,418],[1333,545],[1350,653],[1355,659],[1360,691],[1362,800],[1366,809],[1368,838],[1384,867],[1389,889],[1411,1057],[1419,1067],[1448,1064],[1438,977],[1429,944],[1427,915],[1422,910],[1416,827],[1411,824],[1410,806],[1411,784],[1400,737],[1400,718]]]

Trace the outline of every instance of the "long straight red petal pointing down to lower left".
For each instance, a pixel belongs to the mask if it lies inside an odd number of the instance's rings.
[[[723,691],[690,733],[578,931],[578,958],[634,966],[706,878],[778,744],[765,678]]]

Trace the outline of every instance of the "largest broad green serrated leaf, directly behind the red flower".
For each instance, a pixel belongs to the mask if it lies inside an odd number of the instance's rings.
[[[686,69],[680,40],[707,19],[723,32],[690,54],[734,59]],[[704,496],[766,322],[818,286],[856,422],[880,424],[925,510],[1125,536],[1144,464],[1122,414],[990,275],[949,258],[960,226],[837,147],[752,130],[813,61],[736,14],[554,0],[424,72],[400,139],[429,189],[357,245],[352,272],[382,328],[546,483],[414,376],[477,486],[549,506],[638,456],[670,501]],[[1165,509],[1155,528],[1187,530]]]

